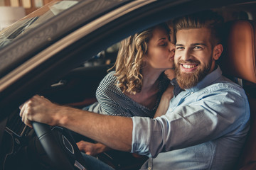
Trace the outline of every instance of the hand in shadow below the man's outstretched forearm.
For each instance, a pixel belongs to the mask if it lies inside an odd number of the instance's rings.
[[[110,149],[109,147],[101,143],[91,143],[85,142],[83,140],[78,142],[77,145],[80,151],[85,152],[85,154],[89,154],[91,156],[96,156],[97,154],[100,154]]]

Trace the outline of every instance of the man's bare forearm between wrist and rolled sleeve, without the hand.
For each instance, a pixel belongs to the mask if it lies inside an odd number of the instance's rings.
[[[57,125],[92,138],[113,149],[130,152],[132,148],[132,119],[90,113],[63,106]]]

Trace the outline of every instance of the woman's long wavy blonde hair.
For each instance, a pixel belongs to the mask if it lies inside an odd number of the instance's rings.
[[[148,51],[148,43],[153,36],[153,30],[156,27],[169,28],[166,23],[161,23],[152,28],[136,33],[122,40],[114,63],[115,76],[117,77],[119,88],[122,92],[127,91],[130,94],[136,94],[142,90],[142,67],[144,67],[143,58]]]

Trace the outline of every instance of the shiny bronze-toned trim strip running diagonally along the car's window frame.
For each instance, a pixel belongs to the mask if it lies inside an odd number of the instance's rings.
[[[39,64],[45,62],[50,57],[58,53],[60,50],[63,50],[65,47],[68,47],[68,45],[79,40],[81,37],[84,37],[85,35],[91,33],[93,30],[104,26],[106,23],[110,23],[110,21],[114,21],[114,19],[118,18],[119,16],[123,16],[124,14],[129,13],[129,11],[132,11],[146,4],[150,4],[153,1],[156,0],[132,1],[129,4],[125,4],[124,6],[121,6],[114,11],[111,11],[110,13],[106,13],[104,16],[97,18],[95,21],[88,23],[87,25],[79,28],[75,32],[70,33],[70,35],[67,35],[65,38],[59,40],[58,42],[55,42],[53,45],[38,53],[38,55],[24,62],[23,64],[21,64],[21,66],[17,67],[5,77],[0,79],[0,92],[4,91],[4,89],[6,89],[8,86],[23,77],[23,75],[30,72],[31,69],[36,68]],[[49,37],[48,40],[50,39],[51,38]]]

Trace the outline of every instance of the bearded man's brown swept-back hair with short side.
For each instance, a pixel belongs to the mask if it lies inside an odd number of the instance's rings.
[[[174,20],[174,33],[178,30],[192,28],[208,28],[210,30],[210,44],[212,47],[222,42],[221,26],[223,17],[213,11],[201,11]]]

